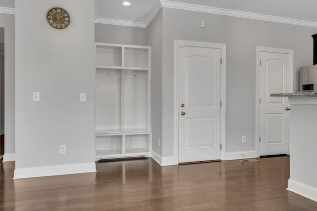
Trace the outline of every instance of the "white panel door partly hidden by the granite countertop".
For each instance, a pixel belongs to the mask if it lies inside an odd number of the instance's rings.
[[[260,60],[260,156],[288,154],[288,98],[270,94],[290,92],[290,55],[261,52]]]

